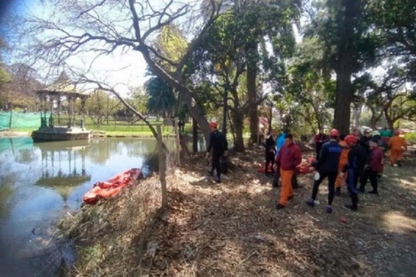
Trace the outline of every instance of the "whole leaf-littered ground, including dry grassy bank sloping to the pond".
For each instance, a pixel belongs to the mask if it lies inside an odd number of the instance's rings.
[[[360,211],[314,209],[312,176],[281,211],[279,190],[257,172],[262,150],[232,157],[220,185],[204,177],[202,156],[168,175],[169,208],[158,212],[156,177],[66,220],[77,237],[73,276],[414,276],[416,186],[414,159],[386,167],[380,196],[360,197]],[[320,189],[325,203],[327,189]],[[346,223],[340,219],[346,219]],[[69,224],[68,224],[69,223]],[[63,224],[65,226],[65,224]]]

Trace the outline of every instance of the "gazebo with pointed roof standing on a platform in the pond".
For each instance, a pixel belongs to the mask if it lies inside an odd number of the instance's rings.
[[[41,108],[41,127],[32,133],[35,141],[89,140],[83,112],[88,95],[79,93],[65,72],[35,94]],[[81,111],[76,111],[77,99],[81,99]]]

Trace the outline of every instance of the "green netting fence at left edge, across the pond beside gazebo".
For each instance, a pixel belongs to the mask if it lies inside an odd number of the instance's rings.
[[[47,117],[50,114],[46,115]],[[37,129],[41,127],[40,112],[0,112],[0,131],[10,129]]]

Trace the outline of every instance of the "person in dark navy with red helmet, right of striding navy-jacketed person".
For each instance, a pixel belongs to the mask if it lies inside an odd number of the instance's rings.
[[[366,150],[358,144],[358,138],[355,135],[345,136],[345,142],[350,147],[348,153],[347,165],[343,168],[343,172],[340,176],[343,178],[345,173],[348,173],[347,188],[351,196],[351,204],[346,204],[345,207],[351,211],[358,210],[358,178],[364,171],[366,165]]]

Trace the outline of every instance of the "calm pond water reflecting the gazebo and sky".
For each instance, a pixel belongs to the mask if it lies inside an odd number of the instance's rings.
[[[34,143],[30,137],[1,138],[0,276],[57,276],[62,259],[74,257],[70,245],[63,257],[62,245],[50,240],[57,220],[79,209],[96,181],[141,168],[155,150],[152,139]]]

